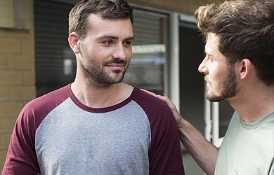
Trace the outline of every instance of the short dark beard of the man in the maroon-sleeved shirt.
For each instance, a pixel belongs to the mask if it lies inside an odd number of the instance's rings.
[[[87,55],[86,50],[83,51],[82,61],[79,63],[82,73],[90,85],[102,88],[110,87],[110,85],[122,82],[124,74],[126,73],[126,70],[129,66],[128,62],[119,59],[109,59],[105,62],[97,62],[96,59],[93,59]],[[117,69],[108,72],[105,70],[105,66],[107,66],[107,64],[115,63],[123,64],[124,69]]]

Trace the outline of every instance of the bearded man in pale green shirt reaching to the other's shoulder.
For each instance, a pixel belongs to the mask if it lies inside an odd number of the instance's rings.
[[[274,174],[274,1],[224,1],[195,12],[206,57],[198,70],[211,102],[235,109],[218,149],[180,116],[180,139],[208,175]]]

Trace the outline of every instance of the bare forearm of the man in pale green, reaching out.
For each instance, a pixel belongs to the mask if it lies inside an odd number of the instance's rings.
[[[218,148],[211,144],[187,120],[181,118],[178,125],[180,140],[197,164],[208,175],[214,175]]]

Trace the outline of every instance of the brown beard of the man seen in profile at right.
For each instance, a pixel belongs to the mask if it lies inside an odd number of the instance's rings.
[[[222,78],[222,80],[218,83],[218,94],[214,94],[214,92],[209,93],[209,90],[207,89],[206,97],[210,102],[220,102],[225,99],[235,97],[235,95],[239,92],[237,78],[233,68],[234,66],[228,66],[228,73],[226,74],[226,77]]]

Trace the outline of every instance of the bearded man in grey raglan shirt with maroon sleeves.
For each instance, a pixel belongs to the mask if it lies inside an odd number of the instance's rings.
[[[124,0],[83,0],[72,8],[75,80],[22,109],[2,174],[184,174],[169,106],[122,83],[132,22]]]

